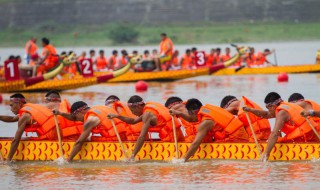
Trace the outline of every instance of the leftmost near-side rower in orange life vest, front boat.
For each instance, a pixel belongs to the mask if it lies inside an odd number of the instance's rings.
[[[12,140],[7,160],[10,162],[19,146],[24,131],[37,129],[37,140],[56,140],[54,117],[50,109],[39,104],[27,104],[22,94],[10,96],[11,111],[18,115],[18,129]],[[30,138],[31,139],[31,138]]]

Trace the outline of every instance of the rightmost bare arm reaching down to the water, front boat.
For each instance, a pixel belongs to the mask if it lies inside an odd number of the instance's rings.
[[[289,119],[290,119],[290,116],[286,111],[281,110],[278,112],[276,116],[276,123],[268,138],[266,151],[262,155],[263,160],[268,160],[271,150],[276,144],[278,137],[280,137],[281,135],[281,129],[283,128],[284,123],[287,122]]]

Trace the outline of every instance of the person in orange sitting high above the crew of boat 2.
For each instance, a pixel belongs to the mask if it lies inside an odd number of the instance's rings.
[[[166,33],[162,33],[160,36],[160,57],[157,57],[154,61],[156,62],[157,69],[161,71],[161,64],[171,61],[174,45]]]

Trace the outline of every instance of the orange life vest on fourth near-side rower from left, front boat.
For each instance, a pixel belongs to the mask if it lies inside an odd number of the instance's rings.
[[[206,104],[198,113],[199,121],[206,119],[214,121],[214,126],[208,135],[214,137],[215,141],[240,141],[248,140],[243,123],[228,111]]]

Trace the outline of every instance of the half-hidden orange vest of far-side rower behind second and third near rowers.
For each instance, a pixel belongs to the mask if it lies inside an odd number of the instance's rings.
[[[119,108],[121,109],[121,112],[118,111]],[[131,117],[131,118],[137,117],[131,112],[131,110],[126,105],[126,103],[122,103],[120,101],[114,102],[113,103],[113,109],[116,110],[116,112],[119,115],[126,116],[126,117]],[[142,125],[143,125],[142,122],[134,124],[134,125],[129,125],[128,124],[127,125],[127,133],[126,133],[127,140],[136,141],[138,139],[138,137],[140,136]]]

